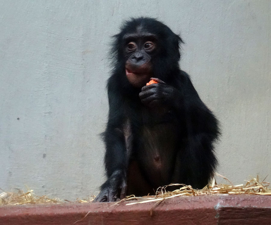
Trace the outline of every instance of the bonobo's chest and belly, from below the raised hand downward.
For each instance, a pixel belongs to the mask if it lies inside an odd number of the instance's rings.
[[[136,159],[154,187],[169,184],[178,143],[174,115],[167,108],[142,108],[141,113]]]

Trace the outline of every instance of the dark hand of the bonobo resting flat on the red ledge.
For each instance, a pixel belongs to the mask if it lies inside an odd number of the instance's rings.
[[[126,179],[120,171],[115,171],[102,185],[101,191],[93,202],[116,202],[125,198],[127,190]]]

